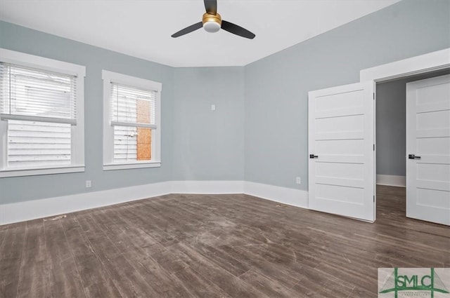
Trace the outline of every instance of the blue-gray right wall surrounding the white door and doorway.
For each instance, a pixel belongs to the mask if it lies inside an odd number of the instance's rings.
[[[401,1],[245,67],[245,180],[307,190],[309,90],[450,47],[449,1]],[[295,184],[295,177],[302,184]]]

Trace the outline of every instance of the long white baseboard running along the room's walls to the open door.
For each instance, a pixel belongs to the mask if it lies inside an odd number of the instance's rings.
[[[0,225],[152,198],[165,194],[249,194],[307,208],[308,192],[244,181],[172,181],[0,204]]]

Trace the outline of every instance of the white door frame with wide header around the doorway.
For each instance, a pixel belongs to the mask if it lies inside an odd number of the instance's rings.
[[[417,74],[426,74],[428,72],[436,72],[443,69],[450,68],[450,48],[445,48],[443,50],[437,50],[436,52],[427,53],[424,55],[419,55],[416,57],[407,58],[404,60],[398,60],[395,62],[390,62],[384,65],[378,65],[371,68],[361,69],[359,72],[359,81],[373,81],[373,90],[376,93],[376,83],[382,81],[391,81],[394,79],[405,78],[407,76],[414,76]],[[376,102],[375,102],[376,104]],[[376,109],[373,109],[373,120],[376,119]],[[376,123],[374,123],[373,128],[376,128]],[[374,138],[373,142],[376,148],[376,132],[373,132]],[[375,151],[376,152],[376,151]],[[376,154],[375,154],[376,156]],[[373,175],[376,177],[376,157],[374,156],[373,161]],[[376,179],[374,180],[374,191],[375,191],[375,203],[373,205],[374,221],[376,219]]]

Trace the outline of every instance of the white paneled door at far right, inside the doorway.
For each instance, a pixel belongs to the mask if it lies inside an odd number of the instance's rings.
[[[450,75],[406,84],[406,217],[450,225]]]

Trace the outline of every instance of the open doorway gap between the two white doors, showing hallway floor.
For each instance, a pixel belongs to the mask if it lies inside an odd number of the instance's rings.
[[[406,84],[447,74],[449,68],[375,84],[375,195],[379,220],[406,219]]]

